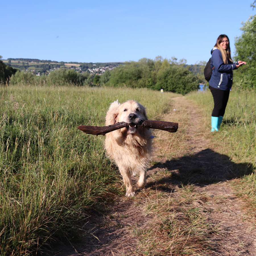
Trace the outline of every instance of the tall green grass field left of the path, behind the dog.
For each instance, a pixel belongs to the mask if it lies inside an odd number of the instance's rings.
[[[104,138],[82,133],[79,125],[104,125],[110,103],[129,98],[157,119],[175,95],[128,88],[0,89],[1,255],[24,255],[72,233],[88,208],[123,192]]]

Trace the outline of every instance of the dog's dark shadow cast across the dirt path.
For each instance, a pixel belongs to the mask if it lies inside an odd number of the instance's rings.
[[[187,184],[204,186],[238,178],[253,172],[252,163],[236,164],[228,156],[216,153],[209,148],[193,155],[183,156],[177,160],[157,163],[149,171],[155,168],[166,168],[171,171],[170,176],[148,183],[148,187],[156,189],[158,186],[164,191],[165,189],[161,185],[164,183],[171,183],[178,187]]]

